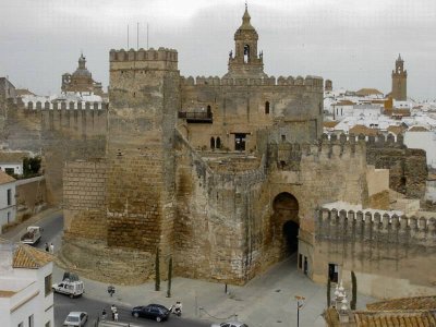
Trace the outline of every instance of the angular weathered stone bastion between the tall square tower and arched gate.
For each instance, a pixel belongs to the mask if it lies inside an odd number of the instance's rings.
[[[263,169],[211,171],[185,140],[178,140],[175,272],[245,283],[267,266],[261,237],[265,214],[261,197],[267,194]]]

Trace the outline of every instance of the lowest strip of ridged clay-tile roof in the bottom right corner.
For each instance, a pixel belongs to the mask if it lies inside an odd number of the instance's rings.
[[[355,312],[356,327],[434,327],[436,312]]]

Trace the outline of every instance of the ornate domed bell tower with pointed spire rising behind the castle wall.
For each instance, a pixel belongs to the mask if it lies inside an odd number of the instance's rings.
[[[263,52],[257,52],[258,35],[250,23],[251,16],[245,3],[242,25],[234,33],[234,56],[229,53],[229,72],[225,77],[266,77]]]

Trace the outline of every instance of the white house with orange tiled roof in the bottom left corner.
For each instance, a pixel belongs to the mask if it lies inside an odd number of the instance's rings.
[[[0,242],[0,326],[55,327],[52,255]]]

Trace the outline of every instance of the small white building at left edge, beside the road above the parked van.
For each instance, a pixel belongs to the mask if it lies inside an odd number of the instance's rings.
[[[15,179],[0,170],[0,234],[4,225],[15,220]]]

